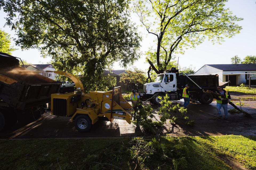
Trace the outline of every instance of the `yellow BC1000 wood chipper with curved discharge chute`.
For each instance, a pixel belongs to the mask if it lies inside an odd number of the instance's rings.
[[[51,114],[71,117],[71,122],[74,122],[75,128],[80,132],[88,131],[101,118],[108,121],[125,120],[131,124],[132,117],[128,112],[132,106],[122,97],[121,87],[107,92],[91,91],[85,94],[83,85],[76,76],[63,71],[54,73],[72,79],[77,91],[52,94]]]

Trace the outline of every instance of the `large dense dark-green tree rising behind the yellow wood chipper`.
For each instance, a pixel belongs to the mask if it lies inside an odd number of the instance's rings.
[[[103,69],[137,60],[140,36],[127,0],[0,0],[22,49],[38,48],[57,70],[82,74],[85,91]],[[16,14],[18,16],[16,16]],[[99,90],[99,89],[98,89]]]

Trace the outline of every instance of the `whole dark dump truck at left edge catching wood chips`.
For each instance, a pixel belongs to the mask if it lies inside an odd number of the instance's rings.
[[[20,67],[17,57],[0,52],[0,130],[28,116],[41,116],[61,84]]]

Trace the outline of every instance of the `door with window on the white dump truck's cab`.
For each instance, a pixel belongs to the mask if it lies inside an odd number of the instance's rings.
[[[165,91],[177,91],[177,81],[175,73],[165,74],[163,88]]]

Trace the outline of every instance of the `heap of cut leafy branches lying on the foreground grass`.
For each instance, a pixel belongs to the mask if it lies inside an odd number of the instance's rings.
[[[135,162],[134,170],[147,169],[149,166],[155,167],[154,169],[187,168],[188,150],[182,143],[170,143],[169,141],[161,143],[159,137],[158,140],[156,138],[133,138],[128,144],[130,157]]]

